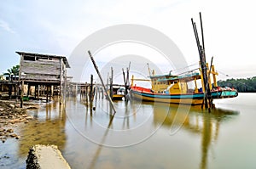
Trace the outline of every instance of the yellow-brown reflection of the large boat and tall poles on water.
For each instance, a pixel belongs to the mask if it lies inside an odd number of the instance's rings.
[[[184,105],[185,106],[185,105]],[[184,109],[183,109],[184,108]],[[178,128],[196,136],[201,136],[201,169],[207,168],[208,151],[212,143],[218,140],[219,127],[222,122],[229,121],[238,111],[213,109],[212,113],[201,110],[201,106],[186,107],[177,104],[154,104],[154,124],[162,124],[172,131]],[[160,113],[161,112],[161,113]],[[177,130],[178,132],[178,130]]]

